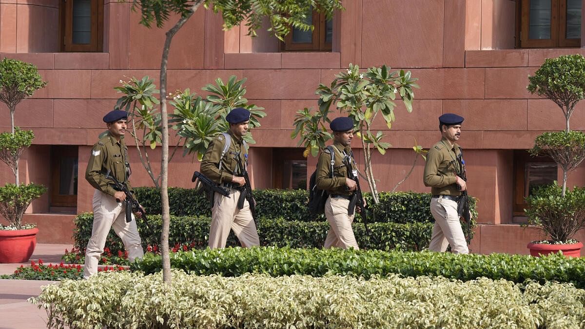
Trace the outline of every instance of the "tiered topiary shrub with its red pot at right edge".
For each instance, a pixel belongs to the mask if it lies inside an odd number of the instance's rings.
[[[585,93],[585,57],[580,54],[546,59],[528,77],[532,94],[549,98],[565,115],[565,131],[545,132],[537,136],[532,155],[546,155],[563,170],[562,186],[539,187],[526,198],[528,224],[540,228],[550,240],[528,244],[531,255],[563,251],[566,256],[580,256],[581,242],[573,239],[585,227],[585,190],[567,190],[567,177],[585,159],[585,133],[570,130],[570,117]]]

